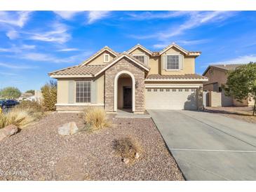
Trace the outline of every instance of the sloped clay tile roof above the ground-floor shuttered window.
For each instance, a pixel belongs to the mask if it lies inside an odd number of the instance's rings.
[[[62,76],[62,75],[91,75],[97,74],[98,71],[103,69],[105,65],[76,65],[74,67],[67,67],[58,71],[50,72],[50,76]]]

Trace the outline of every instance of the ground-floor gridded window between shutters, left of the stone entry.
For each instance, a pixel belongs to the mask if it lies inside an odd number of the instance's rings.
[[[76,81],[76,102],[90,102],[90,81]]]

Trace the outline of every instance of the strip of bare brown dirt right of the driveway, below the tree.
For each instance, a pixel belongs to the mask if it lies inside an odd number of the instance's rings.
[[[205,111],[256,123],[256,116],[252,116],[252,107],[206,107]]]

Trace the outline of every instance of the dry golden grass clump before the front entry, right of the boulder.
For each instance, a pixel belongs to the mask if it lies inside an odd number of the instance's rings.
[[[84,111],[83,120],[89,130],[99,130],[109,128],[111,122],[107,118],[106,111],[97,107],[89,107]]]

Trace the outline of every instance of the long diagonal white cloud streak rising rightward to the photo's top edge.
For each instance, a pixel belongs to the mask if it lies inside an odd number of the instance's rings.
[[[186,16],[187,19],[184,23],[178,26],[173,26],[169,29],[160,30],[154,34],[146,35],[132,35],[131,37],[135,39],[152,39],[157,38],[161,41],[166,41],[173,36],[179,36],[184,34],[189,29],[194,29],[202,25],[207,25],[214,22],[223,22],[231,16],[234,16],[236,12],[234,11],[182,11],[177,12],[175,16],[172,17],[181,17]],[[171,14],[170,14],[171,15]],[[170,16],[171,17],[171,16]]]

